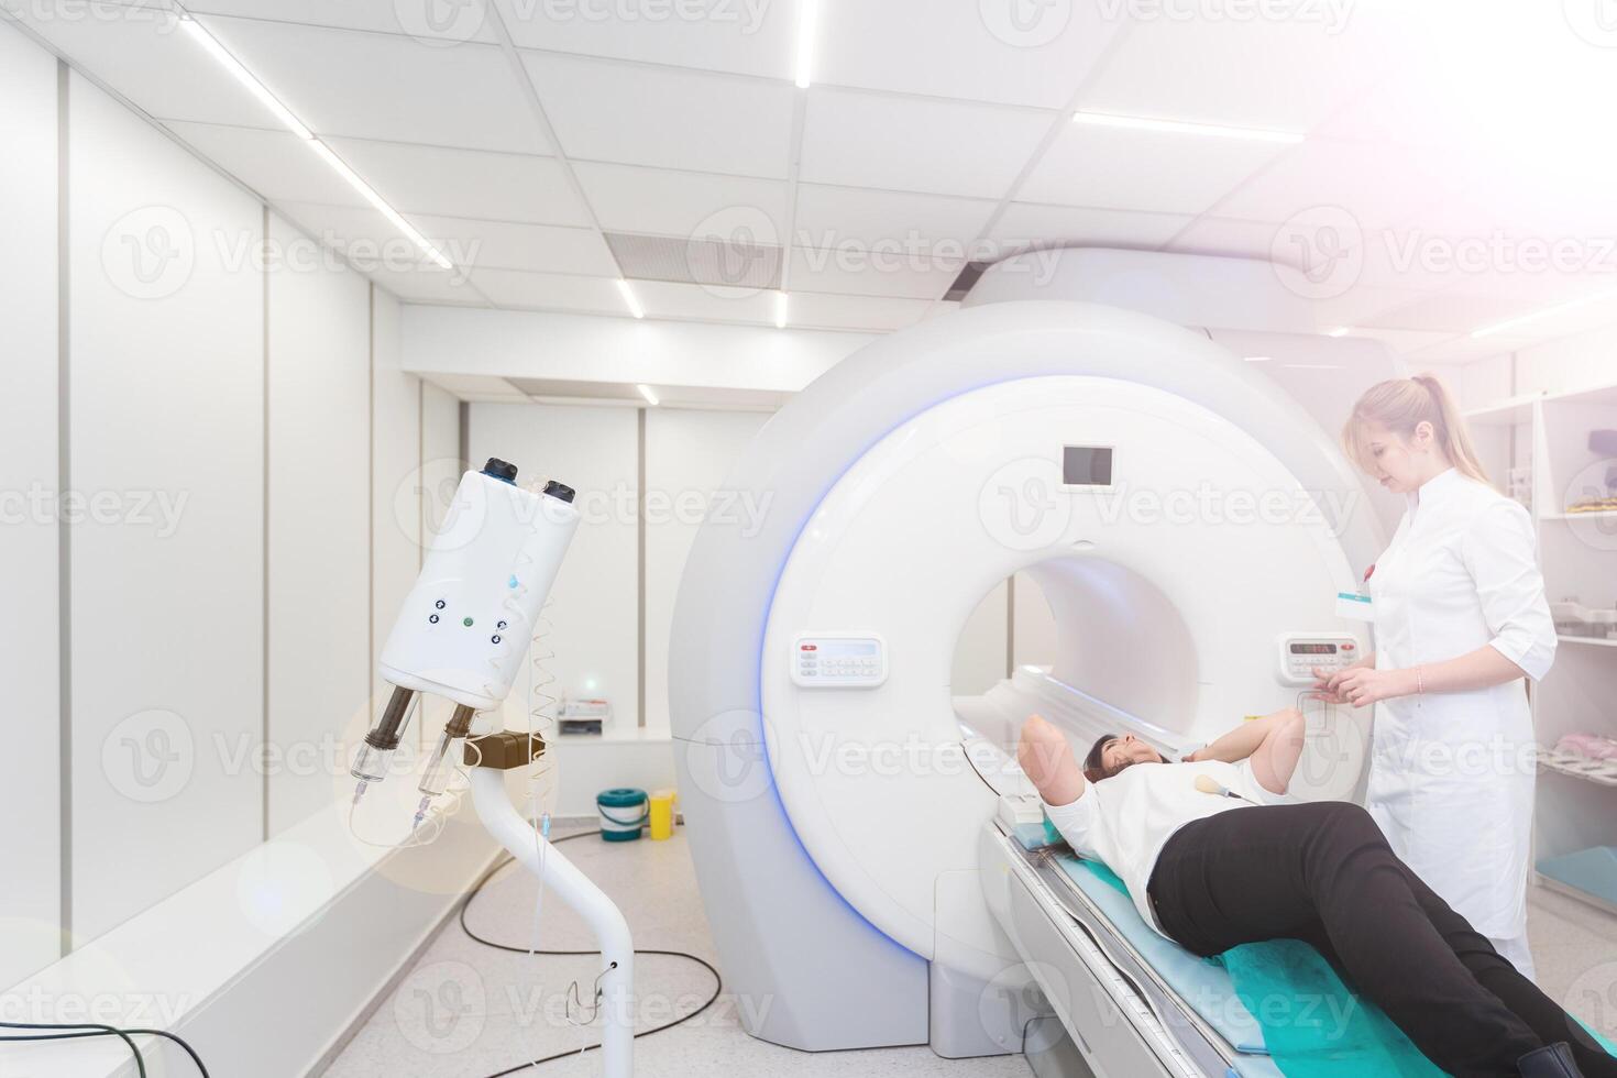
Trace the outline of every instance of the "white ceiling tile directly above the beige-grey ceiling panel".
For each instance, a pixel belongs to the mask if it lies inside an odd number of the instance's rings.
[[[786,233],[786,181],[686,173],[639,165],[574,162],[602,228],[653,236],[752,236],[776,244]]]

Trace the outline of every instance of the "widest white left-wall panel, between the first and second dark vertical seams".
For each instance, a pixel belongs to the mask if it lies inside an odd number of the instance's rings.
[[[260,208],[74,76],[73,931],[259,840]]]

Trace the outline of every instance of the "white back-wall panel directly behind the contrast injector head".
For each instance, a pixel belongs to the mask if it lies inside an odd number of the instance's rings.
[[[519,485],[556,478],[577,491],[584,520],[550,593],[555,688],[606,697],[613,726],[639,724],[635,411],[550,404],[472,404],[474,467],[501,457],[521,469]],[[508,716],[519,716],[527,679]]]

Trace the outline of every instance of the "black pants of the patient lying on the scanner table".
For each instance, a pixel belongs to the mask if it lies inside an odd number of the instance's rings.
[[[1358,805],[1185,824],[1148,891],[1163,931],[1198,955],[1308,941],[1450,1075],[1514,1078],[1522,1055],[1568,1041],[1588,1078],[1617,1078],[1617,1059],[1423,884]]]

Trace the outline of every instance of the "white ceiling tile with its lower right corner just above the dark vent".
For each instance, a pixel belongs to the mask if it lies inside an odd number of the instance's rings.
[[[799,184],[792,242],[826,251],[880,246],[920,252],[946,244],[964,255],[996,205],[991,199]]]

